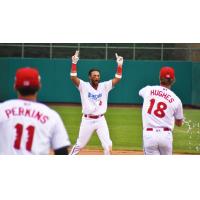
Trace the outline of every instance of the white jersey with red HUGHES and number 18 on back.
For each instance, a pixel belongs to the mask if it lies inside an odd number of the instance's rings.
[[[183,119],[181,100],[162,86],[146,86],[139,91],[143,97],[143,129],[167,127],[174,128],[175,119]]]

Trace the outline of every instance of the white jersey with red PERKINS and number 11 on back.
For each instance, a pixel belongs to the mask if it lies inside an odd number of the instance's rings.
[[[60,116],[46,105],[20,99],[0,104],[0,154],[48,154],[69,145]]]

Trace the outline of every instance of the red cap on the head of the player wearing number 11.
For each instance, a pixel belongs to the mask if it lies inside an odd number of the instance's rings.
[[[15,88],[40,87],[40,75],[37,69],[25,67],[17,70],[15,75]]]

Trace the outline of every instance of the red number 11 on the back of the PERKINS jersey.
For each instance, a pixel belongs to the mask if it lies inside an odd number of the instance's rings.
[[[16,129],[17,135],[16,135],[16,139],[15,139],[15,143],[14,143],[14,148],[20,149],[22,134],[23,134],[23,125],[22,124],[16,124],[15,129]],[[30,125],[26,128],[26,130],[27,130],[27,133],[28,133],[28,138],[27,138],[27,142],[26,142],[26,150],[31,151],[35,127]]]

